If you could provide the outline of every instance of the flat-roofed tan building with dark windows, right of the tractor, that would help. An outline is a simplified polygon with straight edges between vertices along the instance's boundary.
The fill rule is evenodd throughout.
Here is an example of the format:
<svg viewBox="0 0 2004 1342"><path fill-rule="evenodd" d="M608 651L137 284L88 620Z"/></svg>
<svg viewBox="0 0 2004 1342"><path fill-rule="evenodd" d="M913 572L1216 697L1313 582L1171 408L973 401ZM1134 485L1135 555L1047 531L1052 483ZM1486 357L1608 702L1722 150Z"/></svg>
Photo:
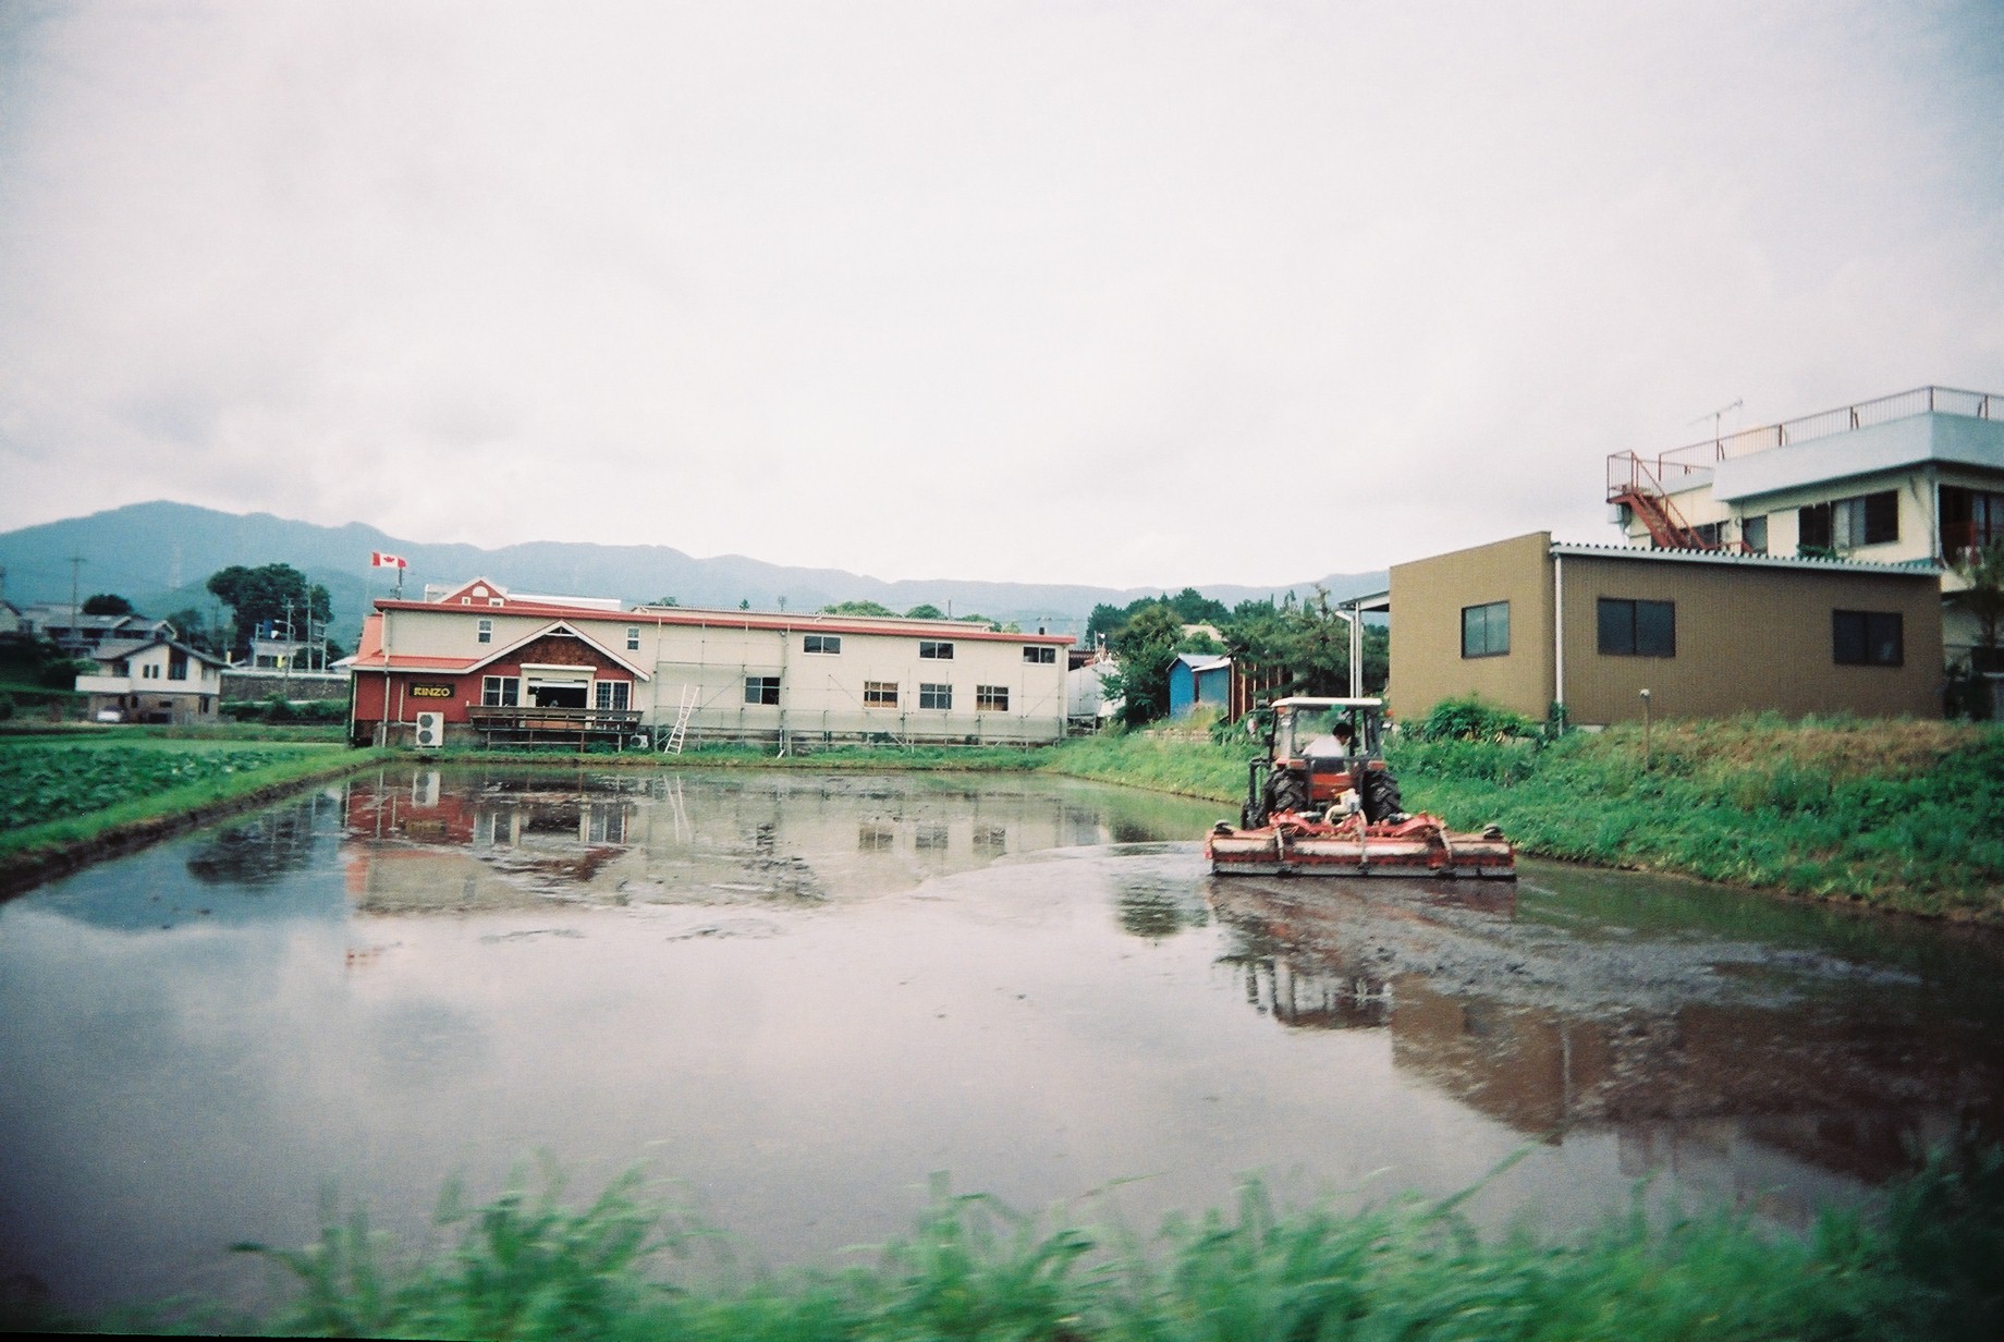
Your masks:
<svg viewBox="0 0 2004 1342"><path fill-rule="evenodd" d="M1553 543L1539 531L1391 569L1401 717L1479 695L1543 719L1774 709L1938 717L1934 565Z"/></svg>

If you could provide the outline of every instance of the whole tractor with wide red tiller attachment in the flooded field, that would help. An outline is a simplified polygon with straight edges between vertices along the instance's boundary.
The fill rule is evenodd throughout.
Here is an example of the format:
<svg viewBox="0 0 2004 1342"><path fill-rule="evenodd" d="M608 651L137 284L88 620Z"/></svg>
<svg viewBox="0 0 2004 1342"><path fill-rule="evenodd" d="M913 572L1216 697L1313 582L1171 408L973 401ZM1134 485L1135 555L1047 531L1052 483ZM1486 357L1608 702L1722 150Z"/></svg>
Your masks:
<svg viewBox="0 0 2004 1342"><path fill-rule="evenodd" d="M1277 699L1252 729L1267 757L1246 765L1238 827L1220 819L1204 839L1212 871L1515 879L1517 853L1495 825L1453 833L1401 809L1383 701Z"/></svg>

